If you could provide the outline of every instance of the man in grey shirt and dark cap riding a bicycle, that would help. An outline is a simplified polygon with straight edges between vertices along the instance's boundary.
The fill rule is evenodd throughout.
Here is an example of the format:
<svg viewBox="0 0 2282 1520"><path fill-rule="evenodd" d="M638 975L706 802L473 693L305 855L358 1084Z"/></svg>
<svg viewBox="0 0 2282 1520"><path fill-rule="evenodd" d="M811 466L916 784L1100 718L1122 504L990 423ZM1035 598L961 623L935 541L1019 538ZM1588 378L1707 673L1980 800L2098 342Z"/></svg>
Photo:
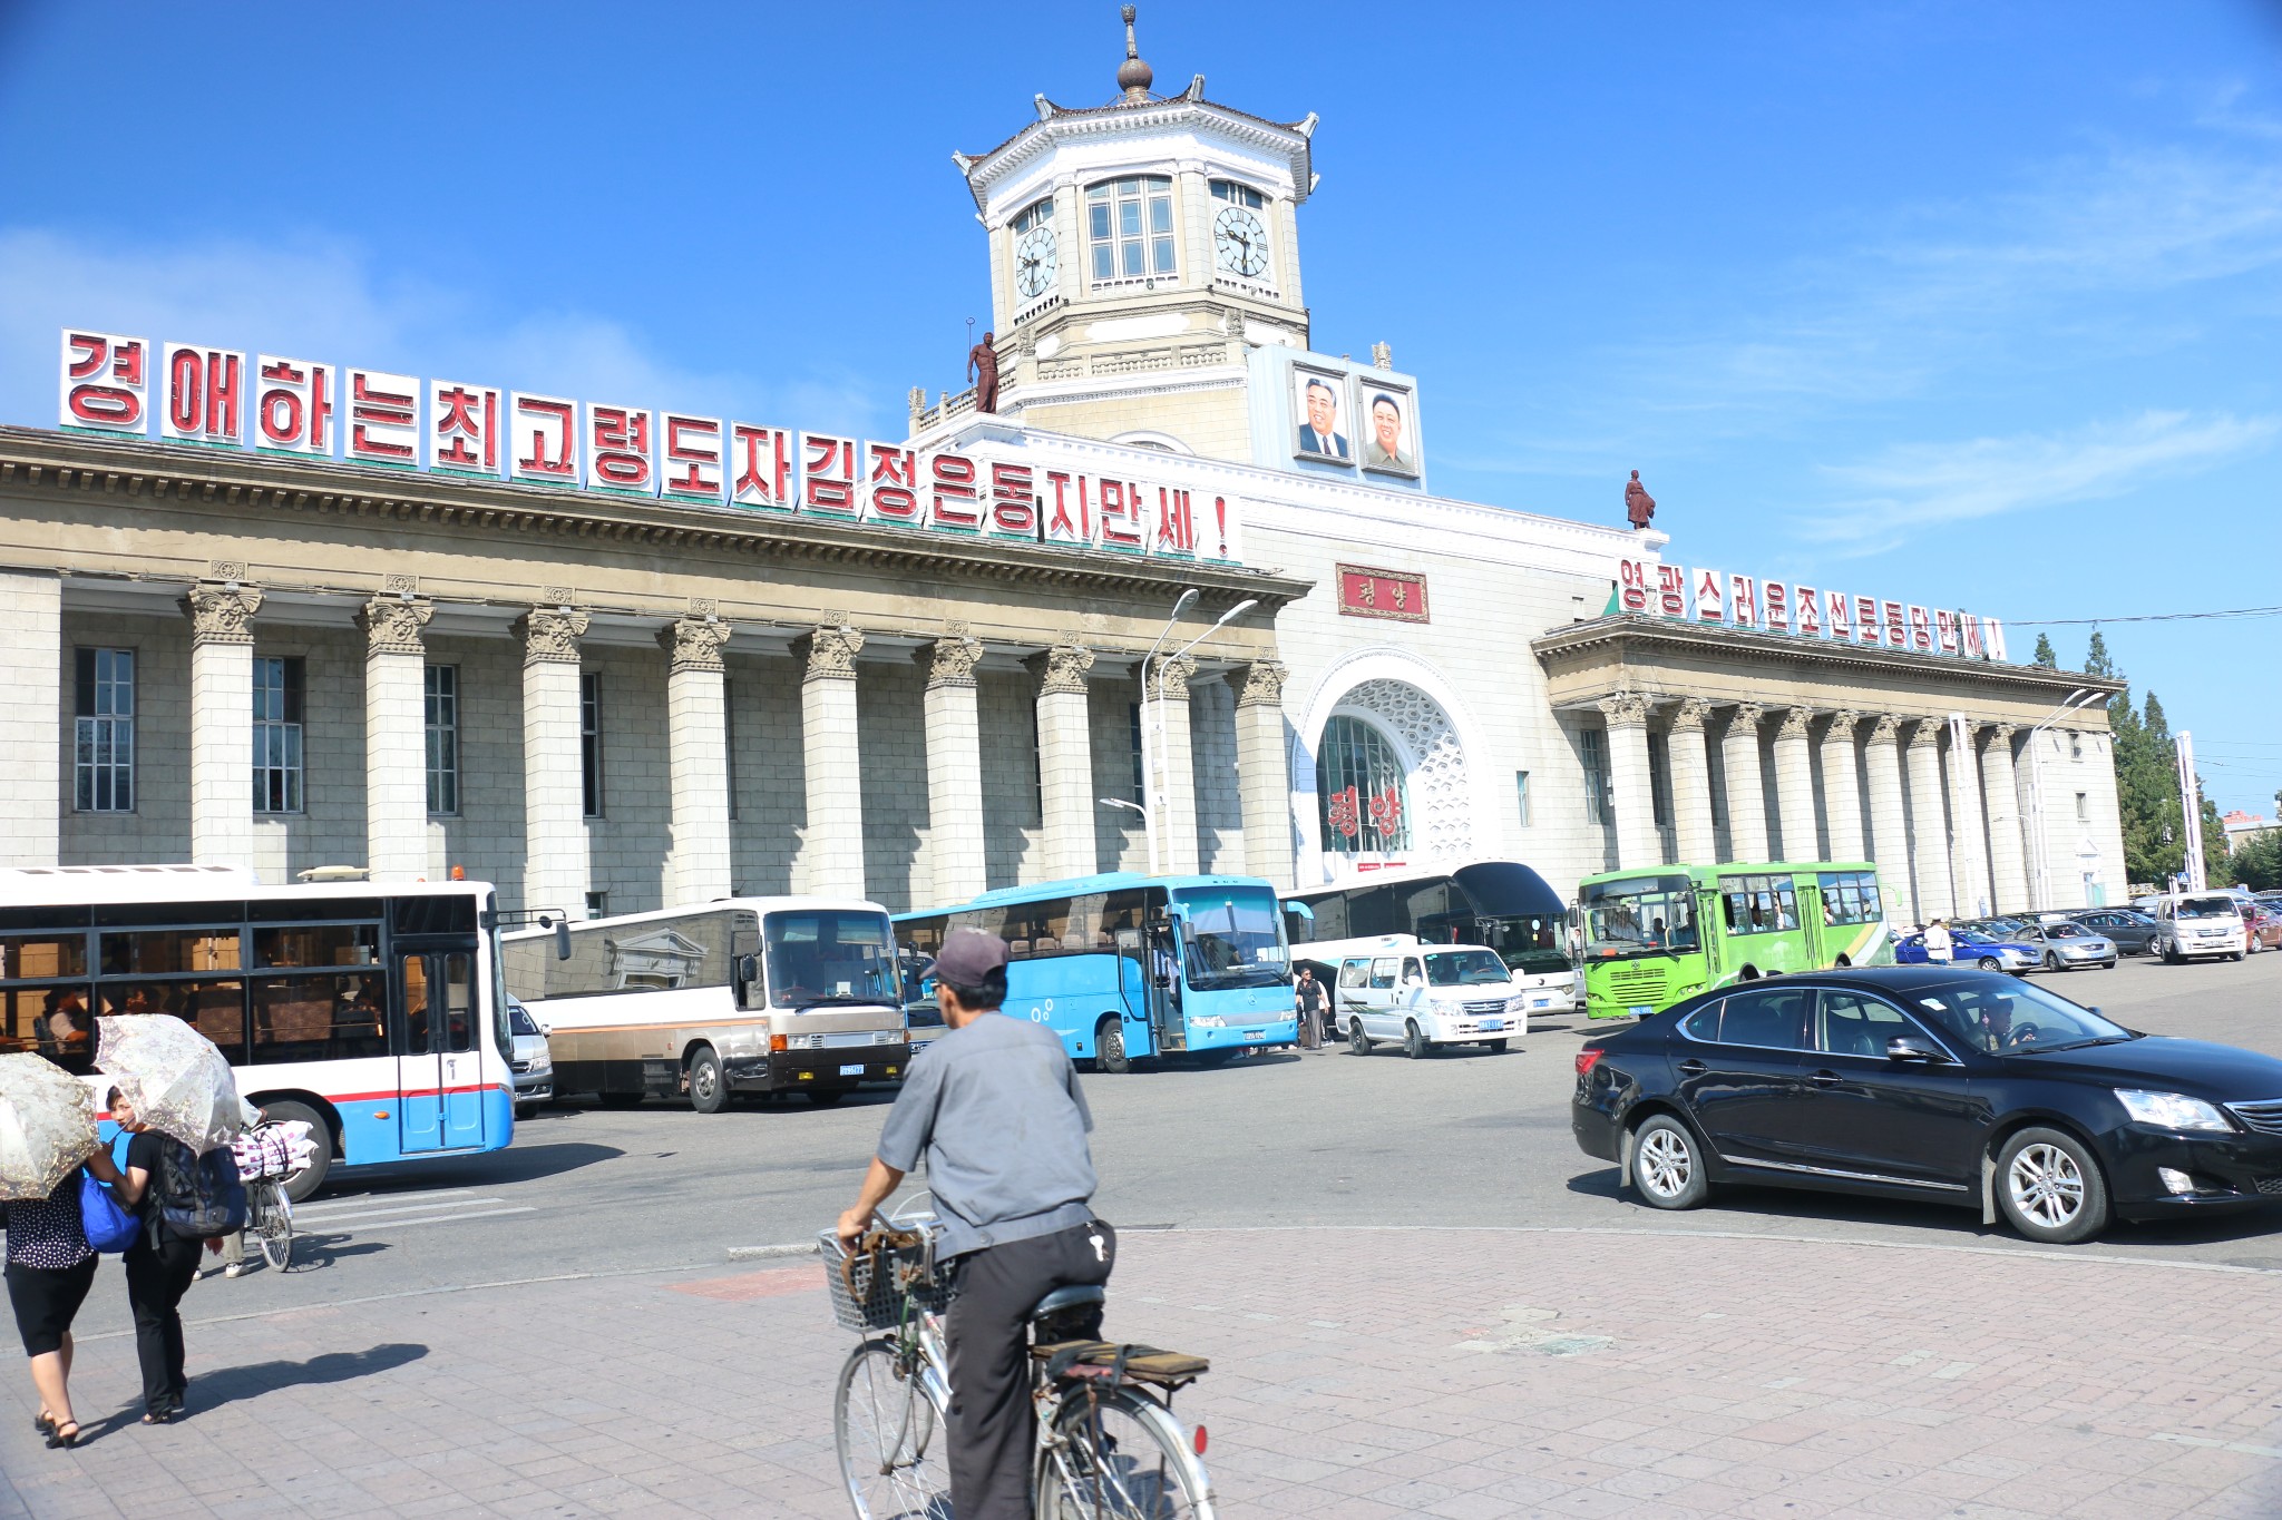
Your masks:
<svg viewBox="0 0 2282 1520"><path fill-rule="evenodd" d="M853 1247L924 1155L958 1288L945 1322L952 1511L1022 1520L1036 1443L1029 1310L1057 1288L1107 1283L1118 1237L1093 1217L1093 1114L1061 1039L1000 1012L1006 941L952 930L933 975L949 1032L904 1076L840 1242Z"/></svg>

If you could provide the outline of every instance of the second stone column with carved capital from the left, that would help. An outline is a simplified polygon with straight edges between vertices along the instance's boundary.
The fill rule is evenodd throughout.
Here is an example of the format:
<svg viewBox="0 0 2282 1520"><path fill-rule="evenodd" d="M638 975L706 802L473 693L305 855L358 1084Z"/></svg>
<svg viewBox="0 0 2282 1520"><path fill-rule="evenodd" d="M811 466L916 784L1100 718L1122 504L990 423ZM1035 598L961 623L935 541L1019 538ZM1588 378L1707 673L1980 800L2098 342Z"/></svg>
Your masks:
<svg viewBox="0 0 2282 1520"><path fill-rule="evenodd" d="M365 866L374 882L427 875L427 645L436 604L374 597L365 629Z"/></svg>

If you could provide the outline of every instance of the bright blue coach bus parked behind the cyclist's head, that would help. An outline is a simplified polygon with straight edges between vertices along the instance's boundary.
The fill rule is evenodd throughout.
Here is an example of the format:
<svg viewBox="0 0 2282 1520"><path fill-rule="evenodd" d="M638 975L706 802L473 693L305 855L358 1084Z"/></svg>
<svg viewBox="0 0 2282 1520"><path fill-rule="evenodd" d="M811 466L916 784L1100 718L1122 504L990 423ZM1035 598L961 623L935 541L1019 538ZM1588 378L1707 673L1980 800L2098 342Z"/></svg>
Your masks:
<svg viewBox="0 0 2282 1520"><path fill-rule="evenodd" d="M1047 1025L1070 1060L1100 1071L1127 1071L1148 1055L1228 1060L1298 1039L1282 914L1260 877L1123 871L901 914L897 939L915 957L915 1046L929 1035L922 1021L936 1016L936 950L965 925L1013 950L1006 1012Z"/></svg>

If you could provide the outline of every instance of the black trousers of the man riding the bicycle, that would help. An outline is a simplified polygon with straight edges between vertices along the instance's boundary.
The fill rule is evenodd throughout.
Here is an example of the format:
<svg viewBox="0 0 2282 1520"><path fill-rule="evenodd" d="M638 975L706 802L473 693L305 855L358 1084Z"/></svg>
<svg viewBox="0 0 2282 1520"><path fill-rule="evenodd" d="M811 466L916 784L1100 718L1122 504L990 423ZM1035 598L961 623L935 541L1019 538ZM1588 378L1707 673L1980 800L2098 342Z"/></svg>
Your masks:
<svg viewBox="0 0 2282 1520"><path fill-rule="evenodd" d="M958 1299L942 1331L952 1356L952 1513L958 1520L1029 1518L1036 1449L1029 1310L1057 1288L1107 1283L1116 1265L1118 1233L1100 1221L958 1258Z"/></svg>

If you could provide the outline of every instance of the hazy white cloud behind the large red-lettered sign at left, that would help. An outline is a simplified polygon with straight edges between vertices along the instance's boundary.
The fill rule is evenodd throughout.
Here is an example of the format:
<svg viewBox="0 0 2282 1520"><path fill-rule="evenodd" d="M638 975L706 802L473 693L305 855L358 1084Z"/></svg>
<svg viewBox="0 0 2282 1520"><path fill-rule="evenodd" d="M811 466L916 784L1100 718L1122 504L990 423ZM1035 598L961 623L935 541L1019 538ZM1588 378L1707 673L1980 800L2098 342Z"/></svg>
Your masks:
<svg viewBox="0 0 2282 1520"><path fill-rule="evenodd" d="M351 244L199 242L107 248L39 228L0 230L0 419L55 424L57 333L94 326L340 365L477 381L584 401L726 412L901 435L890 387L853 371L767 381L675 365L646 335L591 312L497 319L466 292L390 280Z"/></svg>

